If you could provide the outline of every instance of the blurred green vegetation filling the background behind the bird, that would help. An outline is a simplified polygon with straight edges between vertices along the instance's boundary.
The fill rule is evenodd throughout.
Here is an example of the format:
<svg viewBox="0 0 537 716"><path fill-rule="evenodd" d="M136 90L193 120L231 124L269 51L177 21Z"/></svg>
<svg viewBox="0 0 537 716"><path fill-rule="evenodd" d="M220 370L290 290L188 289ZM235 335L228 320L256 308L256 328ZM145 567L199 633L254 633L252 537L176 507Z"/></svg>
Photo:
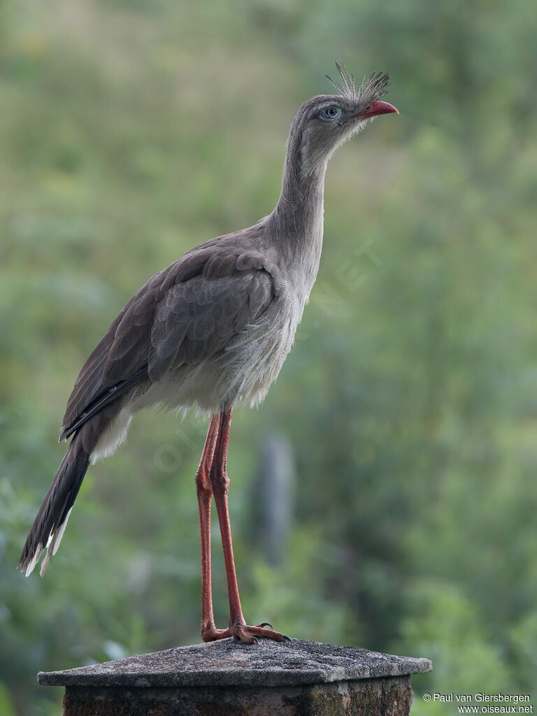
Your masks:
<svg viewBox="0 0 537 716"><path fill-rule="evenodd" d="M536 34L528 0L0 4L2 714L59 712L39 669L199 640L194 417L140 415L46 578L15 565L87 354L148 276L271 211L294 112L337 58L392 69L401 114L332 160L296 347L234 420L244 611L432 658L415 716L453 714L424 691L535 688ZM297 473L278 568L246 538L275 427Z"/></svg>

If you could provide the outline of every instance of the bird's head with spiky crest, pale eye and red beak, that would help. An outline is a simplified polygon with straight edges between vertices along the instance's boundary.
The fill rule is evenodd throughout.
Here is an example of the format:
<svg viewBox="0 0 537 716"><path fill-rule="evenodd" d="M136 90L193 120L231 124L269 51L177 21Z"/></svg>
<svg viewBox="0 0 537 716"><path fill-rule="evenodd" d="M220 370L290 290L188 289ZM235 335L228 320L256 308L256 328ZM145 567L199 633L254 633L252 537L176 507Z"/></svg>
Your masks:
<svg viewBox="0 0 537 716"><path fill-rule="evenodd" d="M341 84L326 77L337 94L319 95L304 102L291 127L289 144L299 149L303 175L326 165L337 147L354 137L369 120L397 112L393 105L380 101L387 92L390 74L372 74L357 87L352 74L338 62L336 66Z"/></svg>

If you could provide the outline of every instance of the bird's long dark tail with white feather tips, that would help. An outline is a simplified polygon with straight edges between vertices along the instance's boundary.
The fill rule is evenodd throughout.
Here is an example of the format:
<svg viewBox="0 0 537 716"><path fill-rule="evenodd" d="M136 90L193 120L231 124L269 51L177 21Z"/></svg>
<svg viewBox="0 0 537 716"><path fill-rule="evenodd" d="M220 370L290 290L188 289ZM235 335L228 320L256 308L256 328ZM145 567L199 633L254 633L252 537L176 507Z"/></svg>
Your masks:
<svg viewBox="0 0 537 716"><path fill-rule="evenodd" d="M32 573L46 548L47 556L40 571L43 576L50 558L56 554L62 541L74 500L89 465L90 453L84 449L82 440L84 427L75 433L26 538L19 559L19 569L26 571L26 576Z"/></svg>

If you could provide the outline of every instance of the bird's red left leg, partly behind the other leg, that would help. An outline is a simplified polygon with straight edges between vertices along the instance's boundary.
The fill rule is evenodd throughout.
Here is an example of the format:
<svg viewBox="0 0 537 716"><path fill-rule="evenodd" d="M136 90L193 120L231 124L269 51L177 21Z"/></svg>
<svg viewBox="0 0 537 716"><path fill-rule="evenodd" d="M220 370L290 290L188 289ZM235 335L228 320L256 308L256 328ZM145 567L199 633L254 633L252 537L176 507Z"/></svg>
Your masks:
<svg viewBox="0 0 537 716"><path fill-rule="evenodd" d="M195 473L195 489L198 493L201 534L201 637L205 642L222 638L224 629L216 629L213 616L213 594L211 589L211 499L213 488L209 472L218 439L221 416L211 416L207 438L201 453L200 466ZM223 634L228 637L229 634Z"/></svg>

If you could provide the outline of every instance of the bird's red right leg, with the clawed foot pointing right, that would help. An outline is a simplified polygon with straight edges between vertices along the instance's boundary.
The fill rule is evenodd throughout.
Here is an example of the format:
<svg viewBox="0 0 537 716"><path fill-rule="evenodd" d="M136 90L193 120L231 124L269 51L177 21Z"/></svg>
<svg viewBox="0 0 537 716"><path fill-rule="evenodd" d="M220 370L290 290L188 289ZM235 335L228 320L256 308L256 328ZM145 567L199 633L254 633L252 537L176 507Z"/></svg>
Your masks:
<svg viewBox="0 0 537 716"><path fill-rule="evenodd" d="M227 458L229 430L231 427L231 410L232 409L221 414L216 447L213 452L211 469L209 470L209 480L213 490L222 537L224 563L226 564L226 579L228 581L229 596L229 627L228 629L216 629L214 627L214 620L211 620L211 623L205 625L205 629L203 629L202 626L202 637L204 641L236 637L236 639L241 639L241 642L245 644L256 644L258 637L274 639L276 642L290 642L291 639L284 636L284 634L273 632L271 629L264 629L263 627L266 626L271 627L271 624L267 622L258 624L256 627L248 627L248 624L244 621L241 600L238 596L237 576L235 562L233 560L233 544L231 543L231 525L228 512L229 478L227 474Z"/></svg>

